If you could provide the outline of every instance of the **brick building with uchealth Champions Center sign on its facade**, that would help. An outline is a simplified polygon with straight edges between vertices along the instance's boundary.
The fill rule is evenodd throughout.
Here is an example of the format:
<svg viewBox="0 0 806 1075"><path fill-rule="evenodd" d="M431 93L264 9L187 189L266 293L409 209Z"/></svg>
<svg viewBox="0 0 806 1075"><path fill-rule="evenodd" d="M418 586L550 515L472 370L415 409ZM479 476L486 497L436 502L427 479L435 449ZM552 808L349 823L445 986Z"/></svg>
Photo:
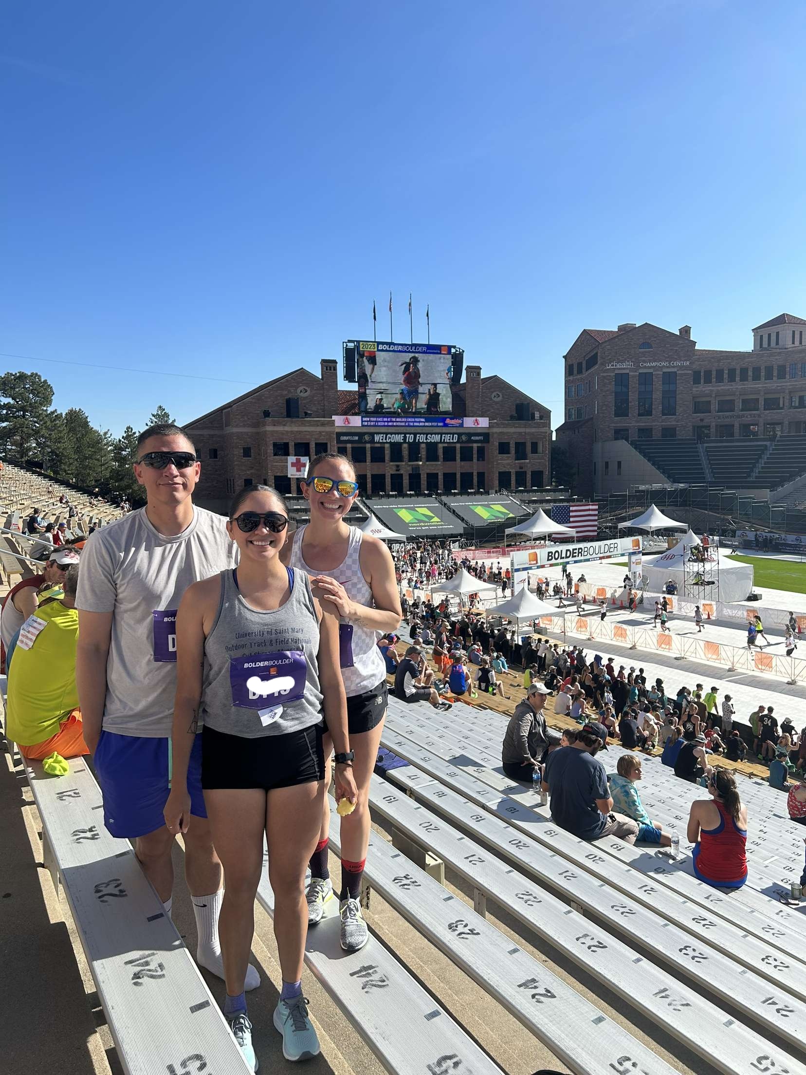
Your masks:
<svg viewBox="0 0 806 1075"><path fill-rule="evenodd" d="M688 325L580 332L563 358L557 430L573 491L674 482L758 493L803 474L806 320L781 314L752 334L751 350L710 350Z"/></svg>

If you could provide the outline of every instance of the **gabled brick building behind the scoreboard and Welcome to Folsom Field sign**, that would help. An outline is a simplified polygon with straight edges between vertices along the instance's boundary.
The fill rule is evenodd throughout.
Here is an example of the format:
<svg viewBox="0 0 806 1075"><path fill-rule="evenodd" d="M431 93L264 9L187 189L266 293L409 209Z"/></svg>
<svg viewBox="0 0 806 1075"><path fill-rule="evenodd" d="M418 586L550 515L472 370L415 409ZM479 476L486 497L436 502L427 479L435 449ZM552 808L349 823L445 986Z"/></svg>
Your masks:
<svg viewBox="0 0 806 1075"><path fill-rule="evenodd" d="M197 500L226 511L244 486L297 492L289 457L334 450L352 460L370 496L549 484L551 414L546 407L503 377L483 377L479 366L465 367L465 381L454 387L452 399L455 416L486 417L489 428L429 433L420 427L408 430L417 443L373 443L380 440L379 431L336 428L334 415L358 415L358 395L339 388L335 360L323 359L318 377L302 368L284 373L186 424L202 461Z"/></svg>

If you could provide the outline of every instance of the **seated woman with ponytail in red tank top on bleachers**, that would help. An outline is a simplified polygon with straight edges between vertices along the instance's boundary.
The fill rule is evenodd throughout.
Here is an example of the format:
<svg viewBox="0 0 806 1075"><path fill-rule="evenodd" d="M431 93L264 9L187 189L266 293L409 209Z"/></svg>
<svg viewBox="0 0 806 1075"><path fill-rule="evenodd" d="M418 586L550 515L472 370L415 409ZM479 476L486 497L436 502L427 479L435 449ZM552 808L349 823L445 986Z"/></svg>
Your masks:
<svg viewBox="0 0 806 1075"><path fill-rule="evenodd" d="M740 888L747 880L747 807L733 773L709 769L710 800L691 804L688 837L694 844L694 874L715 888Z"/></svg>

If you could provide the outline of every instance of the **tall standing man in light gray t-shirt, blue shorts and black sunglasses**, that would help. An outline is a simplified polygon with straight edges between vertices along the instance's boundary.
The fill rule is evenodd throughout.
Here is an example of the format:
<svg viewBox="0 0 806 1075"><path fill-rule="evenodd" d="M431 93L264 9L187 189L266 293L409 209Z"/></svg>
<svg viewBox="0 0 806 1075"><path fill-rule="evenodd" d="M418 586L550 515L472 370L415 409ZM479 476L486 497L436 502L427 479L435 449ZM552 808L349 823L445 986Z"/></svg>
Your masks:
<svg viewBox="0 0 806 1075"><path fill-rule="evenodd" d="M95 755L103 820L134 842L148 880L171 913L177 835L164 823L170 736L176 689L176 610L192 583L234 567L226 520L195 507L201 467L177 426L140 434L134 474L146 506L89 538L78 582L76 684L84 737ZM213 848L201 790L201 734L188 770L192 820L185 833L185 875L198 928L197 958L224 977L218 912L221 864ZM246 988L260 984L249 968Z"/></svg>

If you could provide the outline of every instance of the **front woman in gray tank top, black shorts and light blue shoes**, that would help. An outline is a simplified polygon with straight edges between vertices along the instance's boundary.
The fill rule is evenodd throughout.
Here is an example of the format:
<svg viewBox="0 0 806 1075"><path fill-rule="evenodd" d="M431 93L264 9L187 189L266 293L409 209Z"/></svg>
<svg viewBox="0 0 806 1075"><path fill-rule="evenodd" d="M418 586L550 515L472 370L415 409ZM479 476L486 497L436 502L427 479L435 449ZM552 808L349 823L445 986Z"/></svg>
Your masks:
<svg viewBox="0 0 806 1075"><path fill-rule="evenodd" d="M305 868L316 847L325 799L322 736L347 754L347 706L339 668L339 620L313 597L307 575L279 550L288 513L273 489L235 497L227 530L239 565L195 583L176 617L173 778L165 825L192 825L190 749L202 728L202 788L225 874L219 918L225 1016L253 1071L244 983L254 904L269 848L283 989L274 1026L288 1060L319 1052L302 995L307 932ZM335 766L336 799L357 799L349 761Z"/></svg>

